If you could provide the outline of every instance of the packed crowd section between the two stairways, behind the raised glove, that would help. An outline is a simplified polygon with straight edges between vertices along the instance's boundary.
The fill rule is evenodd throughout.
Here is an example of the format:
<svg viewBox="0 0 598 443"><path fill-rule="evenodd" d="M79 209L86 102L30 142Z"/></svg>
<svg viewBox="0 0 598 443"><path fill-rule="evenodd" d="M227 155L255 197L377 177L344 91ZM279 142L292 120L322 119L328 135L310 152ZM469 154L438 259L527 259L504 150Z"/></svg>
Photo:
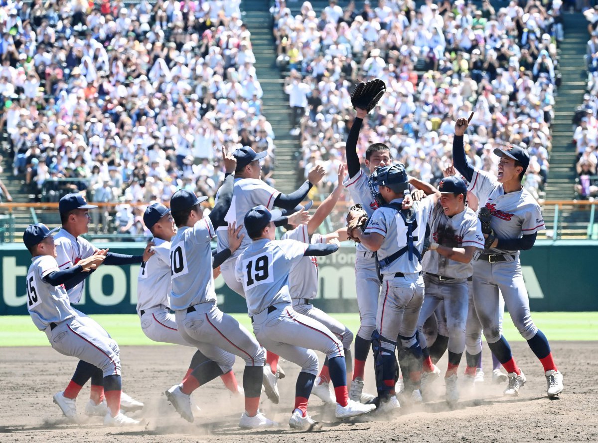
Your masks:
<svg viewBox="0 0 598 443"><path fill-rule="evenodd" d="M561 0L515 0L493 8L472 2L330 0L322 11L304 2L293 16L285 1L271 9L292 134L301 140L301 171L323 163L334 185L358 81L382 78L387 93L361 131L359 152L383 142L410 174L434 182L451 162L458 117L475 112L469 158L491 169L494 147L530 153L524 186L536 199L547 179L550 123L559 86Z"/></svg>

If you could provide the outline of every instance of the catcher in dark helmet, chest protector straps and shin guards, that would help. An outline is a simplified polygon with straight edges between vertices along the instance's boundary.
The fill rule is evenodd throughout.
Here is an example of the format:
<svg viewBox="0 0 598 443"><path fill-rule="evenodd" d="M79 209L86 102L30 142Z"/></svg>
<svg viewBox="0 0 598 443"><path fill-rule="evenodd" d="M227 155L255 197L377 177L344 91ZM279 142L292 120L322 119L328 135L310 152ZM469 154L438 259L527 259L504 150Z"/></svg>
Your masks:
<svg viewBox="0 0 598 443"><path fill-rule="evenodd" d="M423 242L426 224L436 198L428 196L413 202L411 210L404 210L404 193L408 190L405 166L398 163L374 171L371 183L378 187L374 196L379 208L374 211L367 227L352 229L350 220L347 235L356 238L371 251L377 251L384 292L376 312L376 329L372 334L375 359L377 403L383 412L400 408L395 396L395 350L401 340L405 394L417 399L420 393L422 348L417 339L417 318L422 307L424 283L422 278ZM429 187L429 194L437 195ZM382 207L380 207L382 206ZM406 375L404 372L404 376Z"/></svg>

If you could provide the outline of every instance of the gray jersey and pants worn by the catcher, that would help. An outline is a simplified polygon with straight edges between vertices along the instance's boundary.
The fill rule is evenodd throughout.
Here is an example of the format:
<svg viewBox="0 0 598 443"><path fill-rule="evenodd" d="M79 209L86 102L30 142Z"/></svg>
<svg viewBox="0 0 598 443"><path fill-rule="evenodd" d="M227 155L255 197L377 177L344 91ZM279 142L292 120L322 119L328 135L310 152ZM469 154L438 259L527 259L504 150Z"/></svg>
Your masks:
<svg viewBox="0 0 598 443"><path fill-rule="evenodd" d="M395 199L391 203L394 202L401 203L402 199ZM419 253L423 250L426 224L433 208L434 202L430 198L413 203L417 223L413 231L413 246ZM384 237L378 250L378 258L381 261L407 246L407 226L401 215L393 208L382 207L374 211L365 233L377 233ZM382 337L391 342L394 342L399 335L415 336L424 293L421 271L422 265L417 257L413 255L410 259L407 252L392 263L381 266L384 293L380 294L376 329ZM388 341L383 341L381 345L390 352L394 351L394 346ZM408 347L405 343L403 345Z"/></svg>

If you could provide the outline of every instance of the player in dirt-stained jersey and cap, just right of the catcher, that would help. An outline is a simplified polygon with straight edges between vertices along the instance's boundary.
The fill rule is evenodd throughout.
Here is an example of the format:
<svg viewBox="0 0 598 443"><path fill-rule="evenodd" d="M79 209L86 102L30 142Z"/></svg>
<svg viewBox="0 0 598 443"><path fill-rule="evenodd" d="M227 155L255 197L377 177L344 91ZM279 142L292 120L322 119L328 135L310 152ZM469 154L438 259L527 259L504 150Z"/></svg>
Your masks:
<svg viewBox="0 0 598 443"><path fill-rule="evenodd" d="M412 180L415 187L419 181ZM438 185L438 194L430 219L430 245L422 260L425 297L417 321L419 341L423 351L422 396L431 399L431 383L438 378L438 369L430 358L426 336L422 332L425 321L444 304L447 318L449 366L445 375L446 399L459 400L457 368L465 350L465 324L468 314L468 281L472 280L471 259L474 252L484 248L481 223L474 211L466 206L467 186L459 177L445 177Z"/></svg>

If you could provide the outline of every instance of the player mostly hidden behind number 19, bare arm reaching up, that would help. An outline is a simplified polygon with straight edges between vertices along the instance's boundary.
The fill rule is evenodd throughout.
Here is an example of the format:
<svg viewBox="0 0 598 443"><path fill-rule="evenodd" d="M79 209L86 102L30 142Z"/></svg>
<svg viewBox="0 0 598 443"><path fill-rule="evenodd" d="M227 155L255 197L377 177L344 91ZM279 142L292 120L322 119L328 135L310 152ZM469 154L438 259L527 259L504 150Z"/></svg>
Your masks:
<svg viewBox="0 0 598 443"><path fill-rule="evenodd" d="M313 217L310 217L307 224L300 224L299 226L295 226L294 229L288 230L282 236L283 240L291 239L306 244L320 244L344 241L347 239L346 228L344 227L325 235L315 233L337 204L338 198L344 189L344 175L345 166L343 164L338 168L338 186L322 202L318 207L318 210L313 214ZM350 354L353 333L349 328L344 326L344 324L340 323L340 321L330 317L326 312L319 310L311 304L311 301L315 299L318 294L318 259L315 256L303 257L299 263L293 266L289 274L289 294L291 295L295 312L307 315L307 317L313 318L313 320L324 324L324 326L328 327L328 329L341 341L344 348L347 379L350 380L353 366ZM312 393L324 400L324 402L336 403L330 389L328 358L324 361L322 371L318 378L316 378Z"/></svg>

